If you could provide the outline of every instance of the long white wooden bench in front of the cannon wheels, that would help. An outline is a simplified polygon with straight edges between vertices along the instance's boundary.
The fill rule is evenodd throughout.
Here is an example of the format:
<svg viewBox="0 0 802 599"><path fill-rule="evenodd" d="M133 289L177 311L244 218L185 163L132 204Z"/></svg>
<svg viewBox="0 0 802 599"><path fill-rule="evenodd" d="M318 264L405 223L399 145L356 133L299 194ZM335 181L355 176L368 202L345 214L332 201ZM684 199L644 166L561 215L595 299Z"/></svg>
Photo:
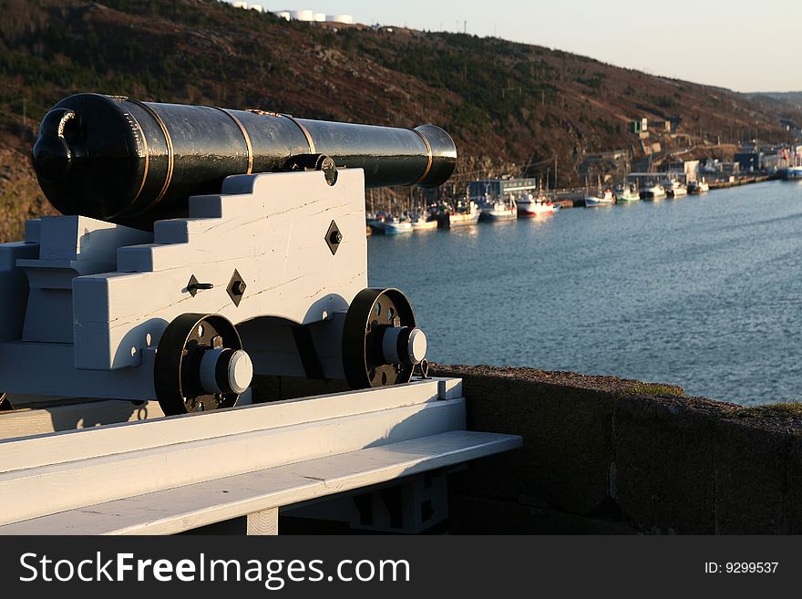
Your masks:
<svg viewBox="0 0 802 599"><path fill-rule="evenodd" d="M0 533L162 534L513 449L470 432L458 379L0 440Z"/></svg>

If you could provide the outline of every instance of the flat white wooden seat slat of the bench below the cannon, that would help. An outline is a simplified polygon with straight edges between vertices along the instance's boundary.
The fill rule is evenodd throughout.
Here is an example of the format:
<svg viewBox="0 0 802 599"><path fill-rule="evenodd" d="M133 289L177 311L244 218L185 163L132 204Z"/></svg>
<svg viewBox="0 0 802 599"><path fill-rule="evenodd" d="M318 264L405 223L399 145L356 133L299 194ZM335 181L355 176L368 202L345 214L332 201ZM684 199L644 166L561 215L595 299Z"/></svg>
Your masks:
<svg viewBox="0 0 802 599"><path fill-rule="evenodd" d="M195 483L0 526L0 534L172 534L452 466L520 446L449 431Z"/></svg>

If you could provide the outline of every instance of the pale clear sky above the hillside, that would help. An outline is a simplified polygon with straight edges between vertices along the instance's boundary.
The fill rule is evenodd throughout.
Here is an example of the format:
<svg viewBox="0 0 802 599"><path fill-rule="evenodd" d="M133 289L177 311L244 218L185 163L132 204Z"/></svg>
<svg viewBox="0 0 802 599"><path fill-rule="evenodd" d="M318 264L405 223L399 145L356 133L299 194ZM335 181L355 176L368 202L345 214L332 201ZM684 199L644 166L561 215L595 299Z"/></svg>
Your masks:
<svg viewBox="0 0 802 599"><path fill-rule="evenodd" d="M802 90L802 0L272 2L253 0L365 25L499 36L736 91Z"/></svg>

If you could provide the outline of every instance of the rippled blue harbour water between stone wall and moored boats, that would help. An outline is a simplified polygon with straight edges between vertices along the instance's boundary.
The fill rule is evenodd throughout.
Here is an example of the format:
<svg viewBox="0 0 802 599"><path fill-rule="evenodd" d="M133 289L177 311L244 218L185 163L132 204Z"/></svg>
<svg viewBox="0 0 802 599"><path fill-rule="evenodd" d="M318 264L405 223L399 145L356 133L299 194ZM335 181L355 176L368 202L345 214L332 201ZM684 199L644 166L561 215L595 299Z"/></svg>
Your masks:
<svg viewBox="0 0 802 599"><path fill-rule="evenodd" d="M410 297L441 364L802 400L802 183L375 235L369 281Z"/></svg>

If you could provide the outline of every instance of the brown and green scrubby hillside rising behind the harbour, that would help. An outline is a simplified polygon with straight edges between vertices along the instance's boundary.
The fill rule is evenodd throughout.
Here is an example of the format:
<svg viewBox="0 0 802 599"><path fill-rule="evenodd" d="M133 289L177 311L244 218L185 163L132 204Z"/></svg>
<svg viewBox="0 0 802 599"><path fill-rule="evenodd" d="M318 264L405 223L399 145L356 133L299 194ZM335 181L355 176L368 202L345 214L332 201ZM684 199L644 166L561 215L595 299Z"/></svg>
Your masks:
<svg viewBox="0 0 802 599"><path fill-rule="evenodd" d="M507 172L553 179L547 167L556 159L556 182L570 185L586 152L628 149L640 158L654 141L663 150L778 141L789 135L779 116L802 122L802 108L785 101L753 102L498 38L288 23L215 0L2 5L0 158L15 173L4 177L0 165L4 238L46 207L23 197L30 181L19 181L32 176L25 155L38 120L79 91L404 127L434 122L457 141L456 182ZM628 132L642 117L672 121L679 137L642 144Z"/></svg>

